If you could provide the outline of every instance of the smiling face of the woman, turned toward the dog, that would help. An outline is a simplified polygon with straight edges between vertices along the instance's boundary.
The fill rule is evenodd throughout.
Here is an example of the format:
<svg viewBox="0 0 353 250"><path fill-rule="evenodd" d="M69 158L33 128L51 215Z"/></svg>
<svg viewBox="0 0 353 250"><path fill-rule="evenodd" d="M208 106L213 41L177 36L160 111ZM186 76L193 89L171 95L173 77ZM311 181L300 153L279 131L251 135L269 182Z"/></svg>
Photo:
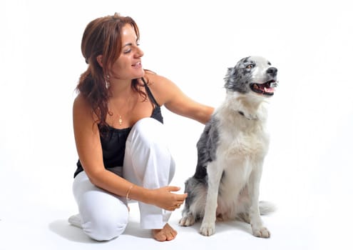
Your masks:
<svg viewBox="0 0 353 250"><path fill-rule="evenodd" d="M126 24L121 30L121 54L113 63L110 79L131 80L143 76L141 64L143 51L138 47L137 36L133 26Z"/></svg>

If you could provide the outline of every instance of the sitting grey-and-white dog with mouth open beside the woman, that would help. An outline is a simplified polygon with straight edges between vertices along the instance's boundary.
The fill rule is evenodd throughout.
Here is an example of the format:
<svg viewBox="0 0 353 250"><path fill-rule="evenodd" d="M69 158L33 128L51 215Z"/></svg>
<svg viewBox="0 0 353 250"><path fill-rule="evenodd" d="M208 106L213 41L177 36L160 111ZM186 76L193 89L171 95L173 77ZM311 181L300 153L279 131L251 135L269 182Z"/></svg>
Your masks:
<svg viewBox="0 0 353 250"><path fill-rule="evenodd" d="M185 181L180 226L203 219L200 234L215 234L217 219L250 223L252 234L268 238L260 214L275 206L259 202L262 165L269 147L266 104L277 87L277 69L261 56L228 68L225 101L215 109L197 144L195 174Z"/></svg>

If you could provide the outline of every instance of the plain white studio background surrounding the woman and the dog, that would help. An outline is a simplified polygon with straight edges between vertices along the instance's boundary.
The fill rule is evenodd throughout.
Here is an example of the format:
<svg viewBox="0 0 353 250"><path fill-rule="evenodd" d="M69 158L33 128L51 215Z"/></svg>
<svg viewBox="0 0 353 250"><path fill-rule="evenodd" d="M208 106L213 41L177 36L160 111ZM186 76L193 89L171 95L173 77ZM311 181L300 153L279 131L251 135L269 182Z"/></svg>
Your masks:
<svg viewBox="0 0 353 250"><path fill-rule="evenodd" d="M226 69L242 57L265 56L277 67L261 185L261 198L278 206L264 218L271 239L231 222L206 238L200 225L179 228L176 211L178 238L160 244L140 231L134 207L126 235L105 244L67 225L76 213L71 106L86 69L81 36L89 21L114 12L138 23L144 68L196 101L218 105ZM341 0L1 1L0 249L349 249L352 16ZM172 184L183 187L203 125L165 109L163 115L178 164Z"/></svg>

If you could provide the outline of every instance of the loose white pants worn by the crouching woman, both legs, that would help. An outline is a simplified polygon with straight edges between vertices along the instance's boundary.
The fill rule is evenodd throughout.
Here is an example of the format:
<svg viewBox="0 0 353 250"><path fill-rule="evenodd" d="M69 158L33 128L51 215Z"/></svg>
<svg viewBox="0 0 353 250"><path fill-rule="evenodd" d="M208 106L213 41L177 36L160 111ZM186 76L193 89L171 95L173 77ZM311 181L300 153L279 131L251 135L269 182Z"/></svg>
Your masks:
<svg viewBox="0 0 353 250"><path fill-rule="evenodd" d="M153 118L138 121L126 141L123 178L147 189L168 186L175 173L163 132L163 124ZM73 181L73 196L78 204L81 227L92 239L113 239L128 224L125 197L113 195L91 184L84 171ZM171 212L139 202L143 229L162 229Z"/></svg>

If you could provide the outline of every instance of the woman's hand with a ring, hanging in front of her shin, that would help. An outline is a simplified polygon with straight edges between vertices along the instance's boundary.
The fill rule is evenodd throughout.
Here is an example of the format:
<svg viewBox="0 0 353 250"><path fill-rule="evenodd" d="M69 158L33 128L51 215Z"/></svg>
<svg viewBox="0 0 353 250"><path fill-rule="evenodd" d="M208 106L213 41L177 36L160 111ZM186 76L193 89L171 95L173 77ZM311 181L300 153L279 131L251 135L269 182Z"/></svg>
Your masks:
<svg viewBox="0 0 353 250"><path fill-rule="evenodd" d="M168 211L179 209L188 196L188 194L172 193L179 190L180 187L178 186L163 186L160 189L153 189L151 190L150 203Z"/></svg>

